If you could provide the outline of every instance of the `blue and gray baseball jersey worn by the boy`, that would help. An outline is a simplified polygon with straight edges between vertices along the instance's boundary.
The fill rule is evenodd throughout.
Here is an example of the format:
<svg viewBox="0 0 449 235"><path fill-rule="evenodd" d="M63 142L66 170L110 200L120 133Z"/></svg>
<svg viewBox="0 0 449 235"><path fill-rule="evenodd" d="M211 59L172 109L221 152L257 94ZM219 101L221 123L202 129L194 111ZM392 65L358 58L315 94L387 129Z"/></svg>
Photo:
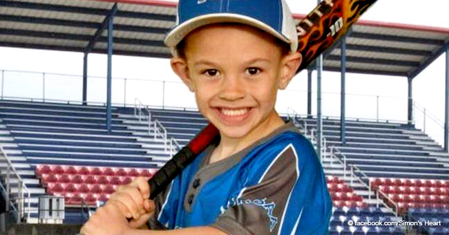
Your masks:
<svg viewBox="0 0 449 235"><path fill-rule="evenodd" d="M157 196L151 229L211 226L232 235L327 234L332 202L323 169L292 122L209 164L217 144Z"/></svg>

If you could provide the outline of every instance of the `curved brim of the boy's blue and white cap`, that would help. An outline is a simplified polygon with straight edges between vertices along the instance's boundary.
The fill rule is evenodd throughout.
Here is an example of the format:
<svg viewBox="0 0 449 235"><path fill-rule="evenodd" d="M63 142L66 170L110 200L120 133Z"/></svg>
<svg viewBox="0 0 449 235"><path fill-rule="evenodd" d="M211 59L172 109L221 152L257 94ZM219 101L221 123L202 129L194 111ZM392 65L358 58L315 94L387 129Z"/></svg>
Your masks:
<svg viewBox="0 0 449 235"><path fill-rule="evenodd" d="M274 37L282 41L285 41L285 43L287 44L291 43L291 41L289 41L287 37L284 37L279 32L268 26L266 23L263 23L262 21L258 21L257 19L251 17L247 17L245 15L237 15L232 13L202 15L185 21L179 26L173 28L171 32L169 32L164 40L164 43L166 44L166 46L174 48L180 43L180 41L182 41L182 39L184 39L184 37L186 37L193 30L212 23L242 23L249 26L254 26L256 28L259 28L260 30L268 32L270 35L273 35Z"/></svg>

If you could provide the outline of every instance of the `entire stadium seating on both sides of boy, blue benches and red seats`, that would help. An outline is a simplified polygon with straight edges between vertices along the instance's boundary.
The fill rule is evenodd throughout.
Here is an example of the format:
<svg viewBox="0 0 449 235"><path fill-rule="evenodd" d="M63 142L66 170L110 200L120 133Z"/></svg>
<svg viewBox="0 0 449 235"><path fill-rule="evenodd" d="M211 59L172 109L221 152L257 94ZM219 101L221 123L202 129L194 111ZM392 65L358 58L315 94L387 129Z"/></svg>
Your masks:
<svg viewBox="0 0 449 235"><path fill-rule="evenodd" d="M151 117L180 145L207 124L197 111L151 109ZM314 128L314 120L298 121L307 122L309 133ZM80 198L90 205L107 200L117 185L136 176L152 176L170 158L162 140L154 138L153 122L140 122L134 109L113 108L111 133L105 131L104 122L102 106L0 101L0 139L15 167L36 190L33 195L65 196L69 207L79 205ZM339 140L338 121L325 120L324 132L328 148L342 151L348 166L356 165L372 178L372 198L373 191L381 189L398 195L392 198L402 203L401 208L445 208L435 206L444 205L448 198L449 171L441 161L445 155L421 131L402 124L352 121L347 123L344 145ZM334 200L330 234L404 234L403 227L347 225L348 220L397 221L403 217L376 207L374 199L367 200L366 189L353 177L343 180L343 166L338 162L325 158L323 168ZM430 230L423 229L432 234Z"/></svg>

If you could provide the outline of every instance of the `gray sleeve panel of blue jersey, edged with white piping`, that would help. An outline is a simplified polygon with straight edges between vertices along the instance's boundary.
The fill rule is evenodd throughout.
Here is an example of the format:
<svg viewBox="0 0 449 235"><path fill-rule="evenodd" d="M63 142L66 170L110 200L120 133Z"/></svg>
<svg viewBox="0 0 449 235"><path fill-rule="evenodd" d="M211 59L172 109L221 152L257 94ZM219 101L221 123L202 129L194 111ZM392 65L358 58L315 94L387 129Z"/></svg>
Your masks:
<svg viewBox="0 0 449 235"><path fill-rule="evenodd" d="M298 156L289 144L274 159L258 184L242 189L240 198L233 199L230 207L211 226L228 234L278 234L299 178L297 166ZM247 231L242 233L242 228Z"/></svg>

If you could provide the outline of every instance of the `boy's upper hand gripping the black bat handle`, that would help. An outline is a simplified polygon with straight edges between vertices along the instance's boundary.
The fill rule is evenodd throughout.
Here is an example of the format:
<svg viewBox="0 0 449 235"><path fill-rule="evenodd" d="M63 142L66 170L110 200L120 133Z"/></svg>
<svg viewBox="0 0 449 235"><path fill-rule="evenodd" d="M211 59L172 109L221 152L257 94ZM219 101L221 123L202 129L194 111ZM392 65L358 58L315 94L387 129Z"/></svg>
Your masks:
<svg viewBox="0 0 449 235"><path fill-rule="evenodd" d="M111 195L106 206L114 203L129 221L131 228L139 228L149 220L154 212L154 201L149 199L150 186L148 178L138 177L128 185L120 185Z"/></svg>

